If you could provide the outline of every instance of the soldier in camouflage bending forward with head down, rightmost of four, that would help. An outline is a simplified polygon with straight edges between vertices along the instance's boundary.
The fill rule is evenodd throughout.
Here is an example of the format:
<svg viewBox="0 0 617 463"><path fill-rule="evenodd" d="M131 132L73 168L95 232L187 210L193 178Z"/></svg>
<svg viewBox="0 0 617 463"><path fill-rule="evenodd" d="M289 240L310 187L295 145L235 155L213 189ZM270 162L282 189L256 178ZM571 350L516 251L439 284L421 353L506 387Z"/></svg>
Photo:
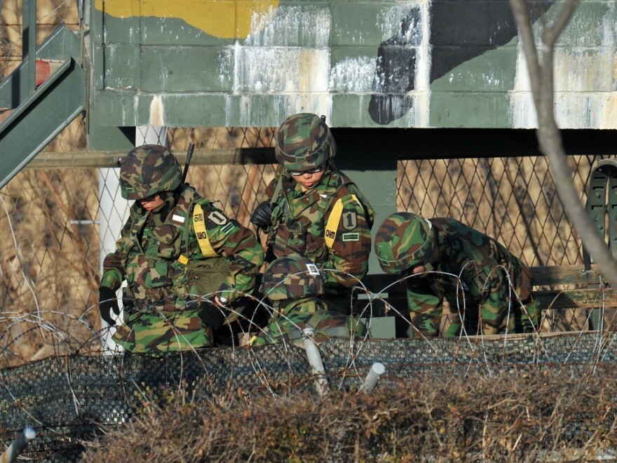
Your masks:
<svg viewBox="0 0 617 463"><path fill-rule="evenodd" d="M421 337L439 334L444 299L455 314L442 333L447 337L527 333L538 325L529 269L461 222L392 214L377 231L375 253L386 273L407 277L410 315Z"/></svg>

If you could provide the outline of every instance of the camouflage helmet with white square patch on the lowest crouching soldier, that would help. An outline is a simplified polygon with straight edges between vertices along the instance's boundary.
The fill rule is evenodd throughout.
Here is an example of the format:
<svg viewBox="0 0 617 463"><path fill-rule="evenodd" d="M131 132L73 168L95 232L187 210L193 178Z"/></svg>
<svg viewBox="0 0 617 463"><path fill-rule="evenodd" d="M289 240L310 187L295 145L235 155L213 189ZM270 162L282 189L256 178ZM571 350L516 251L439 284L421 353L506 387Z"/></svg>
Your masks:
<svg viewBox="0 0 617 463"><path fill-rule="evenodd" d="M279 257L266 267L260 290L273 301L323 294L316 264L306 257L291 255Z"/></svg>

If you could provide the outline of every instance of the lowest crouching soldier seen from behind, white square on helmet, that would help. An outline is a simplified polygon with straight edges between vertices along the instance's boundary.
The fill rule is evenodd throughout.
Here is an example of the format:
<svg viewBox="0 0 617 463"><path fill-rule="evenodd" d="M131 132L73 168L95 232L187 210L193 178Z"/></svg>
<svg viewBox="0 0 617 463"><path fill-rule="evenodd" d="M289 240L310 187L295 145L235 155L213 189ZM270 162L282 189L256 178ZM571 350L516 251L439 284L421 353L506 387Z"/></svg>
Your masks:
<svg viewBox="0 0 617 463"><path fill-rule="evenodd" d="M252 346L287 342L303 346L303 330L313 328L313 339L364 337L367 329L353 316L330 310L320 298L322 275L306 257L273 260L264 271L261 292L273 304L269 325L251 340Z"/></svg>

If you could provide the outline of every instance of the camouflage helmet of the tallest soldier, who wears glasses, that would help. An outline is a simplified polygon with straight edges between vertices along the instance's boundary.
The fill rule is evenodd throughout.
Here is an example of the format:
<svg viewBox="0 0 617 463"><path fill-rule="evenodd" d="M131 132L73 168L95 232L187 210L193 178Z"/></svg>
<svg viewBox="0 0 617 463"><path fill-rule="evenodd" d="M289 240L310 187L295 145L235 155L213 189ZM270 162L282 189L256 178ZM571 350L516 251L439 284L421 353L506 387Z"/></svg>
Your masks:
<svg viewBox="0 0 617 463"><path fill-rule="evenodd" d="M300 113L289 116L280 125L275 154L285 169L308 170L337 154L337 144L324 119L316 114Z"/></svg>

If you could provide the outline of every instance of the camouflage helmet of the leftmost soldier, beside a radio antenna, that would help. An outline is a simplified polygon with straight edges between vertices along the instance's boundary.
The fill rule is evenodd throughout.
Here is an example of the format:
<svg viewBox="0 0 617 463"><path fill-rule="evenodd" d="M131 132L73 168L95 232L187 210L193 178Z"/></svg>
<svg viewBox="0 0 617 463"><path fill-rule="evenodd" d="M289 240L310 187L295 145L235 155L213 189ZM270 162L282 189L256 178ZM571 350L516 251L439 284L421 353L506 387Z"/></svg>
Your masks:
<svg viewBox="0 0 617 463"><path fill-rule="evenodd" d="M124 199L142 199L175 190L182 170L170 150L161 145L142 145L128 152L120 167Z"/></svg>

